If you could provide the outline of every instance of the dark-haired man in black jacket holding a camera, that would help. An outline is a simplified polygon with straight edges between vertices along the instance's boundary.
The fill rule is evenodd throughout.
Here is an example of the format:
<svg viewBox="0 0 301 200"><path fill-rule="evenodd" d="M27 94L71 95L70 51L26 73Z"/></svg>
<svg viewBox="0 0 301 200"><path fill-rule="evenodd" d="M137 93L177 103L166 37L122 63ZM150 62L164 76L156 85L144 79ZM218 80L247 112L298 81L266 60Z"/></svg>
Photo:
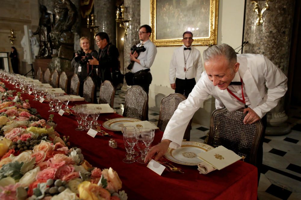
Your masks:
<svg viewBox="0 0 301 200"><path fill-rule="evenodd" d="M119 71L119 52L115 45L110 43L107 33L99 32L95 36L96 45L99 48L98 58L89 60L89 64L98 65L98 77L101 82L112 79L112 73Z"/></svg>

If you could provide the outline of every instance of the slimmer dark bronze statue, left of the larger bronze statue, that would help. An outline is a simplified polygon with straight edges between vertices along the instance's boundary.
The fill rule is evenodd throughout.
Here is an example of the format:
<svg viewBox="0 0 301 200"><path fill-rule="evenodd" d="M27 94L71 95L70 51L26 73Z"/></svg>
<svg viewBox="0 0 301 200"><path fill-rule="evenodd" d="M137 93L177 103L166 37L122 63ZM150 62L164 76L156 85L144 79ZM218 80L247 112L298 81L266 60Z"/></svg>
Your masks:
<svg viewBox="0 0 301 200"><path fill-rule="evenodd" d="M39 27L33 34L39 34L40 50L39 58L49 58L52 54L52 45L50 39L51 24L53 22L53 16L47 12L47 8L44 5L40 6L41 17L39 20Z"/></svg>

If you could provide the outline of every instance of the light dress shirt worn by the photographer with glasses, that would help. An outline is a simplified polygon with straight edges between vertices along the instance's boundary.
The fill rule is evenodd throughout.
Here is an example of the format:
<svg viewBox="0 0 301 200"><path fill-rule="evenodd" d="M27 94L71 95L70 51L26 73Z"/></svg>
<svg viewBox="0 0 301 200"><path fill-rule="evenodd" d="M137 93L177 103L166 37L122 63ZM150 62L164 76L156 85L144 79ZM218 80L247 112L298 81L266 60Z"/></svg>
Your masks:
<svg viewBox="0 0 301 200"><path fill-rule="evenodd" d="M137 44L136 46L141 46L141 43ZM146 42L144 42L143 46L146 50L144 52L140 52L139 56L137 57L137 59L140 60L140 64L138 62L134 63L132 73L149 69L155 60L157 47L154 45L154 43L148 39Z"/></svg>

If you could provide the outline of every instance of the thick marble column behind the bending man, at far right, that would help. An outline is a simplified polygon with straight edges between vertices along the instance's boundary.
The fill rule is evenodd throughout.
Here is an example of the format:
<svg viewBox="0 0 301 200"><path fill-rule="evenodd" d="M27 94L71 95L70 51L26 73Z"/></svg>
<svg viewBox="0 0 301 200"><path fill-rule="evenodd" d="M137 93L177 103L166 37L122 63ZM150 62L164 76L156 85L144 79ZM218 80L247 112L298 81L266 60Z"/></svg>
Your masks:
<svg viewBox="0 0 301 200"><path fill-rule="evenodd" d="M259 13L266 1L257 1ZM249 43L243 53L263 54L287 75L290 57L290 43L293 28L294 0L268 1L269 8L262 15L262 24L257 25L258 15L253 11L255 4L246 1L244 41ZM284 112L284 97L267 113L266 135L283 135L290 132Z"/></svg>

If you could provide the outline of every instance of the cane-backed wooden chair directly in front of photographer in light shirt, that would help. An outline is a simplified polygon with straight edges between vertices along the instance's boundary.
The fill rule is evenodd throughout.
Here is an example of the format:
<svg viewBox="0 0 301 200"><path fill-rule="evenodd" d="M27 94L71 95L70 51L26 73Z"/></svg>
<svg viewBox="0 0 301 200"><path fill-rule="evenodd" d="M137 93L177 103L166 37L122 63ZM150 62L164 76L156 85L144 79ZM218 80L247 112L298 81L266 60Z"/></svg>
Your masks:
<svg viewBox="0 0 301 200"><path fill-rule="evenodd" d="M126 91L123 116L129 118L146 119L148 94L138 85L133 85Z"/></svg>

